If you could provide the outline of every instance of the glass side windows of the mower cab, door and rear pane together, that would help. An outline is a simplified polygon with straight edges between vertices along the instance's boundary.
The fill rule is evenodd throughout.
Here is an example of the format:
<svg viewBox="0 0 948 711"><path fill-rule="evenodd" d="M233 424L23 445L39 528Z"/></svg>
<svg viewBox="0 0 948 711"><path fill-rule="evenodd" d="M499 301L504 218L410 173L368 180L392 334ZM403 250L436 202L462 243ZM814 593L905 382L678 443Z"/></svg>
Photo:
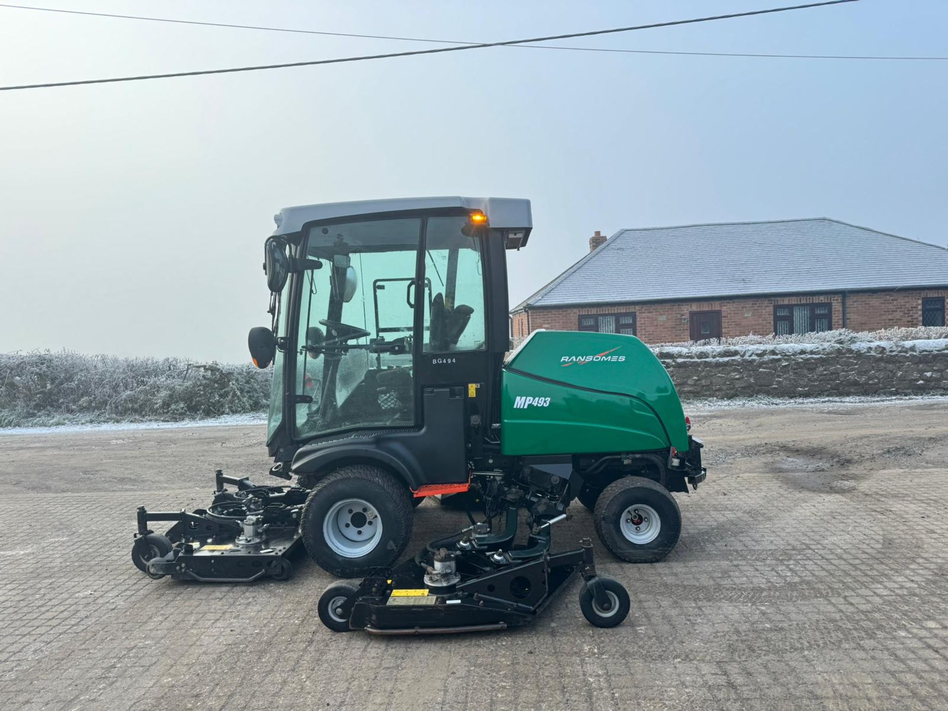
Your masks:
<svg viewBox="0 0 948 711"><path fill-rule="evenodd" d="M302 230L297 254L308 262L283 300L284 309L291 304L282 354L288 371L283 358L275 370L292 398L283 412L293 440L420 424L420 359L450 362L487 348L486 232L468 212L322 221ZM271 430L274 420L271 412Z"/></svg>

